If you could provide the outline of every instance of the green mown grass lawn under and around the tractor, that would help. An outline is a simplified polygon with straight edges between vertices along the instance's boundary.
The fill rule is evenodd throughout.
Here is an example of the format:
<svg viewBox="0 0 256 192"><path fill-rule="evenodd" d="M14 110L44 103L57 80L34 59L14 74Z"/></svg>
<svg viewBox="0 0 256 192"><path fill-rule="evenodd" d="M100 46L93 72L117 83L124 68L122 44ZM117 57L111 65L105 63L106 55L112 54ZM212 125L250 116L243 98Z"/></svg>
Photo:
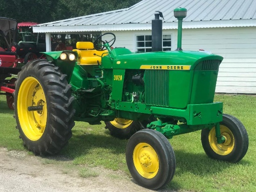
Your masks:
<svg viewBox="0 0 256 192"><path fill-rule="evenodd" d="M240 119L249 135L249 149L237 164L209 159L202 149L200 131L175 136L170 143L175 150L176 171L167 189L203 192L255 192L256 191L256 97L252 95L217 94L216 101L223 102L224 113ZM0 96L0 146L9 150L25 150L19 139L13 111ZM74 165L99 166L121 170L129 175L125 160L128 140L113 138L100 126L76 122L73 137L60 152L72 160ZM45 160L45 163L51 161ZM82 177L91 174L81 168ZM97 176L97 172L95 172ZM84 176L83 176L84 175Z"/></svg>

